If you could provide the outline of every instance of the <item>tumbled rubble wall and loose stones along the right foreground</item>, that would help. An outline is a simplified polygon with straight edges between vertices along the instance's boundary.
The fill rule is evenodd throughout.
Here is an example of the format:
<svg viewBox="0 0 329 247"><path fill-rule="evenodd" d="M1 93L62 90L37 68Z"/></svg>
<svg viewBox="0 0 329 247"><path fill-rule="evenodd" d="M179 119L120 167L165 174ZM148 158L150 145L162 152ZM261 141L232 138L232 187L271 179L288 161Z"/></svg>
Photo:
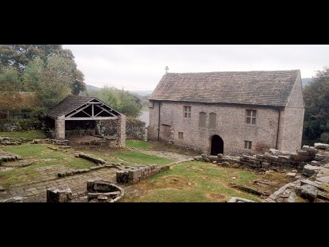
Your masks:
<svg viewBox="0 0 329 247"><path fill-rule="evenodd" d="M270 150L270 153L254 156L241 155L240 157L202 154L194 159L222 166L254 168L261 171L293 167L295 170L288 172L286 176L297 180L282 186L269 195L264 202L329 201L329 144L315 143L314 147L304 145L302 150L296 150L295 153ZM297 169L302 175L296 176ZM265 173L267 172L271 171ZM244 198L238 199L231 198L230 202L247 202Z"/></svg>

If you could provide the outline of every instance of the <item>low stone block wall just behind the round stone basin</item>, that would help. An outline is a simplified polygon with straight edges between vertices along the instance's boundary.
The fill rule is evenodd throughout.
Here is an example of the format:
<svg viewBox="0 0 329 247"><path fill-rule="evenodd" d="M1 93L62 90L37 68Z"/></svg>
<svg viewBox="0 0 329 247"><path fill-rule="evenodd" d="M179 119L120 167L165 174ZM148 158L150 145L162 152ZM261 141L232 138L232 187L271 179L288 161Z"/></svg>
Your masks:
<svg viewBox="0 0 329 247"><path fill-rule="evenodd" d="M169 165L159 167L157 165L140 165L138 167L129 167L117 172L118 183L136 183L149 176L169 170Z"/></svg>

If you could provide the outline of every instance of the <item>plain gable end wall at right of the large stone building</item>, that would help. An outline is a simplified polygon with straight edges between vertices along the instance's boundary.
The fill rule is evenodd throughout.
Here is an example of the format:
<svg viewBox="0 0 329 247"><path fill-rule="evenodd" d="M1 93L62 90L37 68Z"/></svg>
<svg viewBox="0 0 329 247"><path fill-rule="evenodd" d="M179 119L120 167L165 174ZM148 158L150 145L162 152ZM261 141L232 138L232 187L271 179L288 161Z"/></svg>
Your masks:
<svg viewBox="0 0 329 247"><path fill-rule="evenodd" d="M299 75L293 86L289 102L284 109L284 129L282 132L281 150L295 152L302 147L304 112L302 82Z"/></svg>

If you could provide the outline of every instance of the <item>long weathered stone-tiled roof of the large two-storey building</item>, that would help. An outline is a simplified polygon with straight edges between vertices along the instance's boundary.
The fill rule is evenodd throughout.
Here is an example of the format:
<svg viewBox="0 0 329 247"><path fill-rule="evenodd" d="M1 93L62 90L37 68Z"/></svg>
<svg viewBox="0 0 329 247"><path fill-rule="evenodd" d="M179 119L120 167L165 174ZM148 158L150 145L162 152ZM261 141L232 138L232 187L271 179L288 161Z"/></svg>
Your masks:
<svg viewBox="0 0 329 247"><path fill-rule="evenodd" d="M286 106L300 70L165 73L149 99Z"/></svg>

